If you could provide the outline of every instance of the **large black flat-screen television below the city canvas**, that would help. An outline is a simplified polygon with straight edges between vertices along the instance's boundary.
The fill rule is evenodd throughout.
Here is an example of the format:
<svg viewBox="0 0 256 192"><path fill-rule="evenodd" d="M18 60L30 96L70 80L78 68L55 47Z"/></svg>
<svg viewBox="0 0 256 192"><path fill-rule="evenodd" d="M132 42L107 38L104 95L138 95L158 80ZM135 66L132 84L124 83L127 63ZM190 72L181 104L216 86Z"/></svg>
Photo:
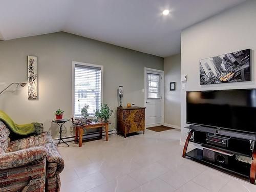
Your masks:
<svg viewBox="0 0 256 192"><path fill-rule="evenodd" d="M256 89L186 92L187 123L256 133Z"/></svg>

